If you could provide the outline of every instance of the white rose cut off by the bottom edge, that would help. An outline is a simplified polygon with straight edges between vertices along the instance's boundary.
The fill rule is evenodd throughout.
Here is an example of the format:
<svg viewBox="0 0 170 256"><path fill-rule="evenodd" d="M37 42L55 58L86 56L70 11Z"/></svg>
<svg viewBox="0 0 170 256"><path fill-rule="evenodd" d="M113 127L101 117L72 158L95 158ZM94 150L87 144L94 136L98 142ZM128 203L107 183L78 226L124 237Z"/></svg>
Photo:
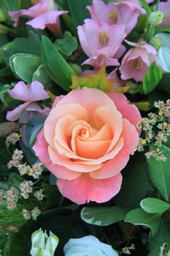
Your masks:
<svg viewBox="0 0 170 256"><path fill-rule="evenodd" d="M95 236L69 239L63 252L65 256L118 256L112 246L102 243Z"/></svg>

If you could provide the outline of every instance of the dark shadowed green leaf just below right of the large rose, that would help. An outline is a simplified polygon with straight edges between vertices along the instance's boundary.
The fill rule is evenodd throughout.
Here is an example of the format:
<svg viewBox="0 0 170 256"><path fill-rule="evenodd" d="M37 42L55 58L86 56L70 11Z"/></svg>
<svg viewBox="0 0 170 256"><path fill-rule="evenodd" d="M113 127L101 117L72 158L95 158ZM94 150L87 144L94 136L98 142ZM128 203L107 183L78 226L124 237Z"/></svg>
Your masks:
<svg viewBox="0 0 170 256"><path fill-rule="evenodd" d="M136 203L144 198L149 188L147 162L144 155L136 152L122 173L123 184L113 200L119 206L136 206Z"/></svg>

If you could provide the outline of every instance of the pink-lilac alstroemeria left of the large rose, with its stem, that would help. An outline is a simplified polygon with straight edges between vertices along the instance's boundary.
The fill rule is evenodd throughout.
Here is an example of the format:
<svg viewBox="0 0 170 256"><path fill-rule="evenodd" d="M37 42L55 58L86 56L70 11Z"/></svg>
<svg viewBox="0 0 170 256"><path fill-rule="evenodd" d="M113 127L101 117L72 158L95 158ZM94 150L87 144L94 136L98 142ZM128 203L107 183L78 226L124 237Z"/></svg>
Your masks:
<svg viewBox="0 0 170 256"><path fill-rule="evenodd" d="M39 81L34 81L30 85L26 85L23 81L20 81L13 89L8 90L8 93L13 99L19 99L25 102L14 110L7 112L6 118L8 121L16 121L19 119L18 121L20 123L26 124L31 117L48 116L50 108L37 102L42 99L50 98L44 86L42 86L42 83L39 83ZM27 145L25 126L20 128L20 134L23 138L23 142Z"/></svg>

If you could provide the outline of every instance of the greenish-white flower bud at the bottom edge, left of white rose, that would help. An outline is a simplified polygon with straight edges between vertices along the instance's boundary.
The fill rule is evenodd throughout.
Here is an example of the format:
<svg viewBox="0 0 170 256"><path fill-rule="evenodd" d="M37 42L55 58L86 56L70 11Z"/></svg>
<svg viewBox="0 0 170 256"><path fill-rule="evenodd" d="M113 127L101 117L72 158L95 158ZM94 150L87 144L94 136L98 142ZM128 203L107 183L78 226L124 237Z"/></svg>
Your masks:
<svg viewBox="0 0 170 256"><path fill-rule="evenodd" d="M31 256L53 256L58 241L58 237L51 231L50 236L47 236L46 231L43 232L41 228L34 231L31 235Z"/></svg>

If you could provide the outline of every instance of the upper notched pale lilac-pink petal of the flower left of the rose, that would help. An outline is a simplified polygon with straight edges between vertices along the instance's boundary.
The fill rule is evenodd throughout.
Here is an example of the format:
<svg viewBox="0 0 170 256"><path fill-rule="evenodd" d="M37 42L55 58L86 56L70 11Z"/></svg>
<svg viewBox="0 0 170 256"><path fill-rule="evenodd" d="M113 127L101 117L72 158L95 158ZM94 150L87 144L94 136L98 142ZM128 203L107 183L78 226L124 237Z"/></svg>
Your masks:
<svg viewBox="0 0 170 256"><path fill-rule="evenodd" d="M42 86L42 83L39 81L34 81L28 85L20 81L15 84L13 89L8 90L8 93L13 99L20 99L25 102L35 102L37 100L50 98L44 86Z"/></svg>

